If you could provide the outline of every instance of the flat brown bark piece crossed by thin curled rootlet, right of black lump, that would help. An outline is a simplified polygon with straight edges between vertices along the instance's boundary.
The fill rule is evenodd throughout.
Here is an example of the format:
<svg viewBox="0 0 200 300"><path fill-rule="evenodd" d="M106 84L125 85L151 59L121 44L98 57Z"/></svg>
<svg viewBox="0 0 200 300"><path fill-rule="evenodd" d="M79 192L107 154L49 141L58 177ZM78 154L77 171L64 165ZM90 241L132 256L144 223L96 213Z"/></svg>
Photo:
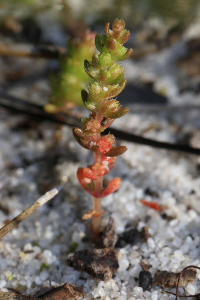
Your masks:
<svg viewBox="0 0 200 300"><path fill-rule="evenodd" d="M164 288L174 288L177 286L179 274L180 273L158 270L154 276L153 284L159 285ZM180 279L179 286L184 286L187 283L193 283L195 277L196 270L186 270Z"/></svg>

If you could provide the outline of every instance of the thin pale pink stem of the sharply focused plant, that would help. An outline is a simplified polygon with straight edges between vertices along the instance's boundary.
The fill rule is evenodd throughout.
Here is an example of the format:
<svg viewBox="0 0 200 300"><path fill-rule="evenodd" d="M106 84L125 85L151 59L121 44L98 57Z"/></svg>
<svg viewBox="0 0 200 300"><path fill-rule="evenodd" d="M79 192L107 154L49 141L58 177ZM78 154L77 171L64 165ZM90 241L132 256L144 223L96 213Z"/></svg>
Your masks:
<svg viewBox="0 0 200 300"><path fill-rule="evenodd" d="M103 115L101 113L96 113L96 120L101 122L103 118ZM96 142L101 137L100 133L97 133L93 137L93 141ZM94 152L94 163L101 163L101 153ZM103 176L97 178L94 180L94 190L95 193L100 193L103 187ZM93 198L93 210L96 211L96 213L99 213L99 216L93 216L92 217L92 231L95 234L98 234L100 231L100 221L101 221L101 199L100 198Z"/></svg>

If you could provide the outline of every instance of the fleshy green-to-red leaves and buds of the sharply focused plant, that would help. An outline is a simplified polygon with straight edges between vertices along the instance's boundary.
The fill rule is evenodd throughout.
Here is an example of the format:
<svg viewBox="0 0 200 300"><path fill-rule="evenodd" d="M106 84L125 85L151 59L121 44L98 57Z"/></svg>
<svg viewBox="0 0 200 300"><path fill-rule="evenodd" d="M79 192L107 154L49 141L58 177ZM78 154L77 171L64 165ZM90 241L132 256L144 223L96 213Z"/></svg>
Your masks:
<svg viewBox="0 0 200 300"><path fill-rule="evenodd" d="M90 111L89 118L80 119L82 128L74 128L76 141L84 148L98 155L98 161L79 168L77 176L80 184L94 197L101 198L114 192L120 185L120 179L109 182L104 190L95 189L95 180L106 175L114 166L116 157L123 154L125 146L115 147L115 137L112 134L100 136L112 122L126 114L129 109L121 108L116 96L124 89L124 67L116 61L128 58L132 49L123 44L129 39L130 32L125 28L122 19L116 19L109 29L106 23L104 35L97 34L95 45L100 52L92 55L92 61L84 61L85 72L94 80L88 85L88 91L82 90L82 101Z"/></svg>

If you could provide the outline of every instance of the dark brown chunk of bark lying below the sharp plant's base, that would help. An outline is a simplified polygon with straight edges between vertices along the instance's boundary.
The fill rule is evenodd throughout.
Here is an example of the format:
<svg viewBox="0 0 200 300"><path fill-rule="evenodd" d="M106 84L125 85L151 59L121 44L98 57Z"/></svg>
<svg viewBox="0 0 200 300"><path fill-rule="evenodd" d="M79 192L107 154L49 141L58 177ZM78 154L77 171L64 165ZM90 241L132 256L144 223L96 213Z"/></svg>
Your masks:
<svg viewBox="0 0 200 300"><path fill-rule="evenodd" d="M111 247L77 251L68 262L76 270L86 271L101 280L110 279L119 267L117 252Z"/></svg>

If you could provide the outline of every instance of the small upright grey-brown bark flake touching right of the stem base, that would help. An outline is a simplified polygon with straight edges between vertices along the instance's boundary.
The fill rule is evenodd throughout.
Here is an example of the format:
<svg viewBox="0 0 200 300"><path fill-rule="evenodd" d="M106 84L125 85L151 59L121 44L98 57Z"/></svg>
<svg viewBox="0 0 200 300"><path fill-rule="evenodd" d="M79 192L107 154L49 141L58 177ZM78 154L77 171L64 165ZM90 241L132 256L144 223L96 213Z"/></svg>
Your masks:
<svg viewBox="0 0 200 300"><path fill-rule="evenodd" d="M104 228L102 233L103 247L115 247L117 242L117 234L115 231L115 220L110 217L107 226Z"/></svg>

